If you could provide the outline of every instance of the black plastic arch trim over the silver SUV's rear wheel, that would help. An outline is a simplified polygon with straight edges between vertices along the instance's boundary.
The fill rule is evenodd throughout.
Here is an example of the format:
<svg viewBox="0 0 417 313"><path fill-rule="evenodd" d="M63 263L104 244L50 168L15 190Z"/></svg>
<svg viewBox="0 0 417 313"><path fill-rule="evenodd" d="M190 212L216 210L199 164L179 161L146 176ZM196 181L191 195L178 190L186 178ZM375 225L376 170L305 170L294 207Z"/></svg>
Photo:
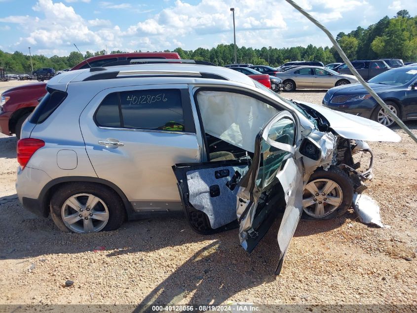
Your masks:
<svg viewBox="0 0 417 313"><path fill-rule="evenodd" d="M65 185L71 182L94 182L97 184L105 185L111 188L112 190L114 190L117 193L117 195L120 197L120 199L123 202L123 206L125 208L125 211L128 217L134 213L132 204L129 202L124 192L119 187L117 187L113 182L106 180L106 179L100 179L100 178L95 178L95 177L69 176L69 177L60 177L57 179L52 179L40 191L38 199L41 201L41 206L43 208L44 217L47 217L49 215L49 203L51 202L51 197L52 197L53 192L59 187L61 187L62 185Z"/></svg>

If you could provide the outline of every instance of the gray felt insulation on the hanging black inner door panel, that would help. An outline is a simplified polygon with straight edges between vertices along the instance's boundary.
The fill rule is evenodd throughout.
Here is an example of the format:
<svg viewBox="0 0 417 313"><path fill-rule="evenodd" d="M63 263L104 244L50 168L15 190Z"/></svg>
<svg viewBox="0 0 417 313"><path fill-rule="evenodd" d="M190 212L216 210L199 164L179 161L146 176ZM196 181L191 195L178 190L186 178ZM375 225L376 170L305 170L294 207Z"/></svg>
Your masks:
<svg viewBox="0 0 417 313"><path fill-rule="evenodd" d="M226 169L229 171L227 177L215 178L216 171ZM230 190L226 183L232 179L236 171L243 177L247 170L247 165L241 165L187 172L189 202L195 209L207 215L213 229L236 220L236 195L239 187L236 186L233 190ZM219 185L220 195L212 197L210 186L214 185Z"/></svg>

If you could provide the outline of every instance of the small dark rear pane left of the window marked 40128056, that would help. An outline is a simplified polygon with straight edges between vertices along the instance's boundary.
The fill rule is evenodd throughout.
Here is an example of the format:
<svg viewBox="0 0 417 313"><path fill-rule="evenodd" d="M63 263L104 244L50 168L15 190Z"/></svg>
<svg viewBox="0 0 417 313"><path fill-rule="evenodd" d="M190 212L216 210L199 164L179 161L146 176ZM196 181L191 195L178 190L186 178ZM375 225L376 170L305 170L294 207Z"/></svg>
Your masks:
<svg viewBox="0 0 417 313"><path fill-rule="evenodd" d="M120 127L119 93L108 94L95 114L96 124L104 127Z"/></svg>

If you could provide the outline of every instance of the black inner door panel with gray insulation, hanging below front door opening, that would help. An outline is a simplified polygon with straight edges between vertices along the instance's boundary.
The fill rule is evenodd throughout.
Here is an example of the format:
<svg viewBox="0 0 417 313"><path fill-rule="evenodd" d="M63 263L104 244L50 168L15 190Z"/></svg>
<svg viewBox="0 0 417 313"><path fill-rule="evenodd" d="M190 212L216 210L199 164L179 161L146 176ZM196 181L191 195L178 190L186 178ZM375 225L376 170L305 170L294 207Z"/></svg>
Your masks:
<svg viewBox="0 0 417 313"><path fill-rule="evenodd" d="M212 234L236 228L236 194L240 179L247 173L248 161L217 161L176 164L184 211L191 228Z"/></svg>

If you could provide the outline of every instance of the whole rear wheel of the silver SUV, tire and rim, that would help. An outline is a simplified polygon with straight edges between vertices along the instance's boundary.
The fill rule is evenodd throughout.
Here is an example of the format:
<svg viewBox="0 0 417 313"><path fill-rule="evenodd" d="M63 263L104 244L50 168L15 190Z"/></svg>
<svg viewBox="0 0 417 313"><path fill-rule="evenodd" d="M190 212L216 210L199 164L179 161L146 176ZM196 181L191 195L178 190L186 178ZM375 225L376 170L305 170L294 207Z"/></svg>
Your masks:
<svg viewBox="0 0 417 313"><path fill-rule="evenodd" d="M89 201L93 201L90 208ZM78 205L77 210L74 203ZM92 182L70 182L54 190L50 212L55 225L65 232L114 230L126 219L118 194L105 185Z"/></svg>

